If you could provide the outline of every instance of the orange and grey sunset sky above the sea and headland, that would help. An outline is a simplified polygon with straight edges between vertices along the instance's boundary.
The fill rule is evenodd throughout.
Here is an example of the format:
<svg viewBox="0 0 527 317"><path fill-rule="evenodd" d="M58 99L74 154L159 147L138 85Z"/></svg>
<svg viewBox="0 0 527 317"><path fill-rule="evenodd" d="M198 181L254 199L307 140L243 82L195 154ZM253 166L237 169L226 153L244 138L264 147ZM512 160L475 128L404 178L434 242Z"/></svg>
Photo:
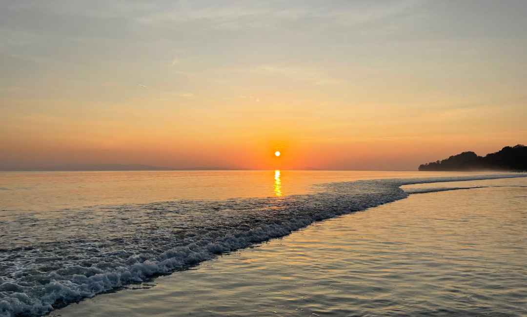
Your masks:
<svg viewBox="0 0 527 317"><path fill-rule="evenodd" d="M0 0L0 169L415 170L527 143L526 17L524 0Z"/></svg>

